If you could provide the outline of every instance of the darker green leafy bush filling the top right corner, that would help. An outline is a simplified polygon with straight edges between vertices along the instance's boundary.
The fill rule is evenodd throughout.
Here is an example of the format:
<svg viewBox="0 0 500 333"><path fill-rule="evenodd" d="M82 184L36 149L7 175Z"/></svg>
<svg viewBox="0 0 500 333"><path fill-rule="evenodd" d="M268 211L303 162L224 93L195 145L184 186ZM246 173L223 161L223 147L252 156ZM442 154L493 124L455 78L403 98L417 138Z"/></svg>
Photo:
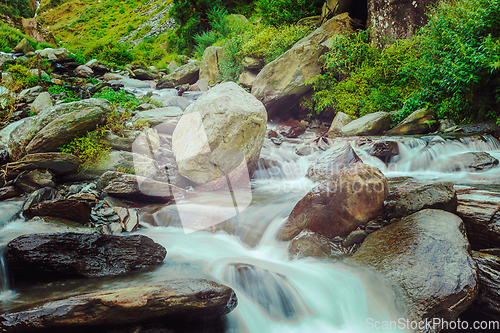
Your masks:
<svg viewBox="0 0 500 333"><path fill-rule="evenodd" d="M420 89L398 118L425 105L459 121L498 117L500 0L440 2L420 35Z"/></svg>

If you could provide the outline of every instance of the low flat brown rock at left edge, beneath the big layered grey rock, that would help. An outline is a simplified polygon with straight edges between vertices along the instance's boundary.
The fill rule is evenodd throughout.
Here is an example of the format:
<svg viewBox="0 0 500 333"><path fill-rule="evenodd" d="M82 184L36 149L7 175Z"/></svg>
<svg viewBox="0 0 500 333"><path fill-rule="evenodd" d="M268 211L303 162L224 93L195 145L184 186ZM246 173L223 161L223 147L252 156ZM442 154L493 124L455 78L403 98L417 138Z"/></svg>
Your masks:
<svg viewBox="0 0 500 333"><path fill-rule="evenodd" d="M48 169L55 175L61 175L75 171L80 165L80 159L71 154L65 153L40 153L29 154L17 162L7 165L7 170L13 170L13 177L17 176L19 171ZM10 174L7 174L10 178Z"/></svg>

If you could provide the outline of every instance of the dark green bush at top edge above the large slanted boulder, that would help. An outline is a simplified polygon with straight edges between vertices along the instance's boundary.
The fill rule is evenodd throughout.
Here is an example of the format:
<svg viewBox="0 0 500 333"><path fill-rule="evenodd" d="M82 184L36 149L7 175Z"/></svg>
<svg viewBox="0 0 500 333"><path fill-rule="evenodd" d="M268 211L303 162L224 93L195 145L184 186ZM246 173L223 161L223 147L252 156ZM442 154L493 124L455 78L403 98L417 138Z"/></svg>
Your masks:
<svg viewBox="0 0 500 333"><path fill-rule="evenodd" d="M304 17L319 14L324 0L258 0L257 13L267 24L296 23Z"/></svg>

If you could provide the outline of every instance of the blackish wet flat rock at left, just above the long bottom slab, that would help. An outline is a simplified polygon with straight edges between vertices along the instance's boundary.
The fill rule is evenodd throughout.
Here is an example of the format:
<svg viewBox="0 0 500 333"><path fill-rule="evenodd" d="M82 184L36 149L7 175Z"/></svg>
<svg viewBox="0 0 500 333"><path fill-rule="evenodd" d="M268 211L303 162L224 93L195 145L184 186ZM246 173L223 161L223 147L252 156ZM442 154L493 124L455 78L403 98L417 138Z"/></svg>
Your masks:
<svg viewBox="0 0 500 333"><path fill-rule="evenodd" d="M37 234L9 242L5 262L15 284L127 274L161 265L166 253L142 235Z"/></svg>

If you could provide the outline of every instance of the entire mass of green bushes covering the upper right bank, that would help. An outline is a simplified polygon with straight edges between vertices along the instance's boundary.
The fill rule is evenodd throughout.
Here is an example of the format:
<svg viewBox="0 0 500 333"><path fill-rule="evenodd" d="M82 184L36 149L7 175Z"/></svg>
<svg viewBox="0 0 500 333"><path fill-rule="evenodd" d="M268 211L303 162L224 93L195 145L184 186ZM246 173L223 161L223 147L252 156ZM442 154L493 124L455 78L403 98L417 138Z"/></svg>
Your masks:
<svg viewBox="0 0 500 333"><path fill-rule="evenodd" d="M382 49L366 32L339 36L323 57L309 103L351 117L432 107L438 117L472 121L500 114L500 0L440 2L410 40Z"/></svg>

